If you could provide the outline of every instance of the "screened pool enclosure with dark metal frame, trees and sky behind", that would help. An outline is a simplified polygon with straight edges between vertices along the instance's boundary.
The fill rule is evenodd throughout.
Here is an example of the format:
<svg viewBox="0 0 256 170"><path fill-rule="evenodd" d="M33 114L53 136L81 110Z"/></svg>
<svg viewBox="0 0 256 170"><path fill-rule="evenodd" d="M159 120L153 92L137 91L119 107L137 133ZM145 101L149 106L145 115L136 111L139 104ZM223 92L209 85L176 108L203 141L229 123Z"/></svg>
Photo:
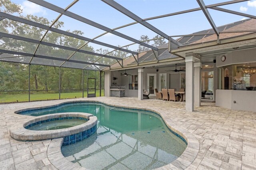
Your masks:
<svg viewBox="0 0 256 170"><path fill-rule="evenodd" d="M255 33L219 27L256 19L233 10L246 1L133 1L132 8L122 0L0 0L0 102L104 96L105 71L174 66L186 57L177 50L204 44L200 39L220 45ZM155 3L159 15L150 16ZM183 10L175 11L177 6ZM218 20L225 16L233 20ZM222 53L203 51L200 60L209 63Z"/></svg>

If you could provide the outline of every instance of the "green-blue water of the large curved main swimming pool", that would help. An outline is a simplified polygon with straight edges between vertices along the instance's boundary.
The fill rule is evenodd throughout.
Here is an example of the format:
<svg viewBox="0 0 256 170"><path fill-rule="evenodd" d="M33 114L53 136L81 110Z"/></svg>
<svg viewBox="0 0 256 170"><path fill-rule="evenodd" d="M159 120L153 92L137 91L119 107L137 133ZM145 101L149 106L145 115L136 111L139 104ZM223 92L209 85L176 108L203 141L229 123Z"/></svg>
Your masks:
<svg viewBox="0 0 256 170"><path fill-rule="evenodd" d="M86 112L98 118L97 133L62 147L62 154L68 160L88 169L159 168L176 160L186 149L186 143L166 127L162 118L148 111L84 102L22 114L62 112Z"/></svg>

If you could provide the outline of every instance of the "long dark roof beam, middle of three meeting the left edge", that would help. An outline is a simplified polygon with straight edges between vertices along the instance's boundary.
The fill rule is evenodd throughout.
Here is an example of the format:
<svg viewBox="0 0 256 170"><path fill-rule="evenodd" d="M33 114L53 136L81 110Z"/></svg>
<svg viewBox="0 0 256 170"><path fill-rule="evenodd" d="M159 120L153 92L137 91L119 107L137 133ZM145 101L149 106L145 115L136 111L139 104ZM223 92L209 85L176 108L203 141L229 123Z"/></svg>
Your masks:
<svg viewBox="0 0 256 170"><path fill-rule="evenodd" d="M123 60L122 58L118 58L118 57L113 57L113 56L109 56L109 55L103 55L103 54L94 53L94 52L91 52L91 51L75 49L75 48L72 48L72 47L66 47L66 46L63 46L63 45L48 43L48 42L39 41L39 40L35 40L35 39L30 39L30 38L26 38L26 37L20 37L18 35L11 35L11 34L8 34L8 33L0 32L0 36L11 38L11 39L17 39L17 40L21 40L21 41L26 41L26 42L30 42L30 43L35 43L35 44L46 45L46 46L50 46L50 47L56 47L56 48L65 49L65 50L69 50L69 51L76 51L76 52L80 52L80 53L84 53L84 54L90 54L90 55L96 55L96 56L100 56L100 57L106 57L106 58L109 58L109 59Z"/></svg>

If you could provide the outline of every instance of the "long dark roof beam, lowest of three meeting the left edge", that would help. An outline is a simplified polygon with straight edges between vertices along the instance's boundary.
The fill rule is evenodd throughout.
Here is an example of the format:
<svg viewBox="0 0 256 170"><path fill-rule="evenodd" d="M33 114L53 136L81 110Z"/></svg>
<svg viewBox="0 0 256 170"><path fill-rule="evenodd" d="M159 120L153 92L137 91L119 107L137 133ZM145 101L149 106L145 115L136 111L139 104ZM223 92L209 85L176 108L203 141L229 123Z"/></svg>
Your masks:
<svg viewBox="0 0 256 170"><path fill-rule="evenodd" d="M58 57L49 57L49 56L45 56L45 55L34 55L34 54L30 54L30 53L22 53L22 52L8 51L8 50L2 50L2 49L0 49L0 53L23 55L23 56L40 58L40 59L56 60L56 61L66 61L67 60L67 59L62 59L62 58L58 58ZM110 65L106 65L106 64L89 63L89 62L85 62L85 61L68 60L68 62L70 62L70 63L79 63L79 64L91 64L91 65L94 65L94 66L110 67ZM16 63L18 63L18 62L16 62ZM38 65L40 65L40 64L38 64Z"/></svg>

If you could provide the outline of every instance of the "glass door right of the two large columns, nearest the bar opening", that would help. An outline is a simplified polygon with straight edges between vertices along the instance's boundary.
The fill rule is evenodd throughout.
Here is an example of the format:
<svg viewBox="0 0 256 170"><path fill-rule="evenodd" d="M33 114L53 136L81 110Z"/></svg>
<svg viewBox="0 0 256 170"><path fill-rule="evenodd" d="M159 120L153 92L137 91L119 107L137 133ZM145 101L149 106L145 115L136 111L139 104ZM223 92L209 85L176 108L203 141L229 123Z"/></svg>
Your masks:
<svg viewBox="0 0 256 170"><path fill-rule="evenodd" d="M201 99L214 100L214 71L203 71L201 72L201 76Z"/></svg>

